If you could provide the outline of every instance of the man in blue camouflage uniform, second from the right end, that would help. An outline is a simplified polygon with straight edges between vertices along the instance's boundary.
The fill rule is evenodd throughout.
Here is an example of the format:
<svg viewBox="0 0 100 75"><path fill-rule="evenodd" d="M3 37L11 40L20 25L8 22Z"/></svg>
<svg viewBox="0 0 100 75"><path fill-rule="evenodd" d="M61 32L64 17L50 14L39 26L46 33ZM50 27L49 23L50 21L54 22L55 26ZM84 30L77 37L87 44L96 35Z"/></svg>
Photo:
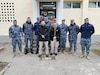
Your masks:
<svg viewBox="0 0 100 75"><path fill-rule="evenodd" d="M72 53L72 49L74 47L74 55L75 55L75 52L76 52L76 49L77 49L77 35L79 33L79 26L75 24L74 22L74 19L71 20L71 24L68 28L68 31L69 31L69 44L70 44L70 52Z"/></svg>

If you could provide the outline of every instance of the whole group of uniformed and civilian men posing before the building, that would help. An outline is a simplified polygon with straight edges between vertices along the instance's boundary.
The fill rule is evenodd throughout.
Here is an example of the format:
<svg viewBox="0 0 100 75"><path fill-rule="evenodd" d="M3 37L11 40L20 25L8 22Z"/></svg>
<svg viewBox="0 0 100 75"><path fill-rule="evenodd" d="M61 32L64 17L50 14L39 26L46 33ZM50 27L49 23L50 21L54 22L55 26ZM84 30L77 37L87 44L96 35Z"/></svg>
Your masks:
<svg viewBox="0 0 100 75"><path fill-rule="evenodd" d="M34 35L35 32L35 35ZM37 22L34 25L31 22L31 18L28 17L27 21L20 27L17 24L17 20L13 20L13 25L9 28L9 37L12 40L13 53L16 56L16 44L18 44L20 54L22 54L22 39L24 37L25 48L24 53L28 54L29 51L34 54L33 50L33 36L36 38L36 52L39 57L43 54L43 47L45 47L46 57L58 55L58 52L64 53L66 50L66 38L68 33L68 41L70 45L70 53L75 55L77 50L77 38L78 33L81 33L81 47L82 56L89 58L91 35L95 32L92 24L89 23L89 19L84 19L84 24L80 27L75 23L74 19L71 19L70 25L65 24L65 19L62 19L62 23L58 24L56 19L51 16L49 19L45 17L37 17ZM30 47L28 46L30 42ZM60 48L58 50L58 47ZM50 50L49 50L50 49ZM74 51L74 52L73 52Z"/></svg>

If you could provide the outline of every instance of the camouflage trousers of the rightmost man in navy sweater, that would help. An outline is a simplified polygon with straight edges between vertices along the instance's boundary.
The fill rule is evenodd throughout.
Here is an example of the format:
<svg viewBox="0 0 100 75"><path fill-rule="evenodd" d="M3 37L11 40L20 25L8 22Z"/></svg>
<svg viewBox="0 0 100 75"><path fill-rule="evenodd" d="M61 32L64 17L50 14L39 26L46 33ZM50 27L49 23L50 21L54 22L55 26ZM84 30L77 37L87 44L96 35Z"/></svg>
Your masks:
<svg viewBox="0 0 100 75"><path fill-rule="evenodd" d="M90 46L91 46L91 38L88 38L88 39L81 38L82 53L85 52L85 48L86 48L86 52L89 53Z"/></svg>

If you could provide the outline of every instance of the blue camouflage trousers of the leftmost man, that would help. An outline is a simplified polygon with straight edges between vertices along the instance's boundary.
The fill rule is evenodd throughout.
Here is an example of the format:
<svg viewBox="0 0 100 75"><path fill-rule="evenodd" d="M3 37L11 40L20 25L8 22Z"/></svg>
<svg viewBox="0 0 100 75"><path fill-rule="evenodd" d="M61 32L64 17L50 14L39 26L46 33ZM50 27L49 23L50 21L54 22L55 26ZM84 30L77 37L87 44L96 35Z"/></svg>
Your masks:
<svg viewBox="0 0 100 75"><path fill-rule="evenodd" d="M19 51L22 51L22 41L20 38L15 39L12 38L12 46L13 46L13 52L16 52L16 45L18 44Z"/></svg>

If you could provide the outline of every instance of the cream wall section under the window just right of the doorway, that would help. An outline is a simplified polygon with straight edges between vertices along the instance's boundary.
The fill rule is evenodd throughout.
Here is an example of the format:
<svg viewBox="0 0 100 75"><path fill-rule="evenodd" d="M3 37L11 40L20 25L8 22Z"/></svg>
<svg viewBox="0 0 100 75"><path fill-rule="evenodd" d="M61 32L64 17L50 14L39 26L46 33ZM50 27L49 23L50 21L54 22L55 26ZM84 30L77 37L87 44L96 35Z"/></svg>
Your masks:
<svg viewBox="0 0 100 75"><path fill-rule="evenodd" d="M70 24L71 19L75 19L77 25L82 24L81 9L63 9L63 17L66 19L66 24Z"/></svg>

